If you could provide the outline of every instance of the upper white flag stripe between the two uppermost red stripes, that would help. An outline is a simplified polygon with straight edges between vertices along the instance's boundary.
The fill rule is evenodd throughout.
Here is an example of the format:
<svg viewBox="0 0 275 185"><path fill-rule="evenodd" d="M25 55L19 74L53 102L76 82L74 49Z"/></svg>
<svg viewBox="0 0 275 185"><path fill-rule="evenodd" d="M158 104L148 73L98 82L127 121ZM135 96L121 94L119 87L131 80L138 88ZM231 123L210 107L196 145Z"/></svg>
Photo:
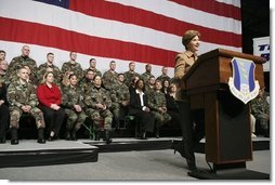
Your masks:
<svg viewBox="0 0 275 185"><path fill-rule="evenodd" d="M232 17L224 17L214 15L200 10L187 8L175 2L167 0L106 0L109 2L117 2L123 5L130 5L154 12L157 14L166 15L179 21L195 25L204 25L207 28L224 30L241 35L241 22ZM196 16L194 16L196 15ZM232 27L232 25L235 25Z"/></svg>

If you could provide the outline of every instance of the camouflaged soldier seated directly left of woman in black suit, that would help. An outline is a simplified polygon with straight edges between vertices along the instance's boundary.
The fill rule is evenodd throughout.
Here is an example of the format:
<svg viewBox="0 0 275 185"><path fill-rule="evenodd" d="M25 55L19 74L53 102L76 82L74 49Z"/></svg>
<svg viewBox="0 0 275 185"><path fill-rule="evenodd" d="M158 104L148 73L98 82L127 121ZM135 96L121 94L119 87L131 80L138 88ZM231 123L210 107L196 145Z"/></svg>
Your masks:
<svg viewBox="0 0 275 185"><path fill-rule="evenodd" d="M110 91L112 98L112 113L114 114L114 119L116 121L116 129L119 129L120 121L123 120L125 116L128 114L130 93L129 88L125 84L125 75L118 75L118 82L114 85Z"/></svg>

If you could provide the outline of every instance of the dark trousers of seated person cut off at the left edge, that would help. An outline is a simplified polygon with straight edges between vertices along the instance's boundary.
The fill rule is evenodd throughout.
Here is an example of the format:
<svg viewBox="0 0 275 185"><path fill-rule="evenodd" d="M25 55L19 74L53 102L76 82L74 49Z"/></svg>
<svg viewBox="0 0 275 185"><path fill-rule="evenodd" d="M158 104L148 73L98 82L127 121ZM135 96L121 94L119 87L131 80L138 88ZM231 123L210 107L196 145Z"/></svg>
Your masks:
<svg viewBox="0 0 275 185"><path fill-rule="evenodd" d="M5 136L6 127L10 124L10 110L4 104L0 106L0 138Z"/></svg>

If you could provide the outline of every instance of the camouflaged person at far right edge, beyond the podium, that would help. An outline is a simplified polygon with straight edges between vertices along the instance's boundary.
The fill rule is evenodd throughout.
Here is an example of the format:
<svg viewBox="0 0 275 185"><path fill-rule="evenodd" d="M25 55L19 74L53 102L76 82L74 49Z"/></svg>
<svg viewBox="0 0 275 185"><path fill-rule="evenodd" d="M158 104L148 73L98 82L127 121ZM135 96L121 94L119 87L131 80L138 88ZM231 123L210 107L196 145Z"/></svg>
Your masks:
<svg viewBox="0 0 275 185"><path fill-rule="evenodd" d="M260 123L260 132L265 137L270 136L270 104L266 100L264 89L261 89L259 95L251 101L251 114L256 121Z"/></svg>

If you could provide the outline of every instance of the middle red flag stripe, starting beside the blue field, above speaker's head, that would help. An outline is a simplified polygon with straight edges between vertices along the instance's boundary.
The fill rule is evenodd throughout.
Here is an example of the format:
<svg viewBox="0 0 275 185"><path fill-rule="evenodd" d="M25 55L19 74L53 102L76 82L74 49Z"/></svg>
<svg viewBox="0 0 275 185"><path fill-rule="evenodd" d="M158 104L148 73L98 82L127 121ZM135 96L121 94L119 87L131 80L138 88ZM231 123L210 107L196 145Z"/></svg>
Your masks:
<svg viewBox="0 0 275 185"><path fill-rule="evenodd" d="M201 40L205 42L241 48L241 35L206 28L119 3L102 0L71 0L69 9L87 15L144 26L176 36L182 36L184 30L196 29L200 31Z"/></svg>

